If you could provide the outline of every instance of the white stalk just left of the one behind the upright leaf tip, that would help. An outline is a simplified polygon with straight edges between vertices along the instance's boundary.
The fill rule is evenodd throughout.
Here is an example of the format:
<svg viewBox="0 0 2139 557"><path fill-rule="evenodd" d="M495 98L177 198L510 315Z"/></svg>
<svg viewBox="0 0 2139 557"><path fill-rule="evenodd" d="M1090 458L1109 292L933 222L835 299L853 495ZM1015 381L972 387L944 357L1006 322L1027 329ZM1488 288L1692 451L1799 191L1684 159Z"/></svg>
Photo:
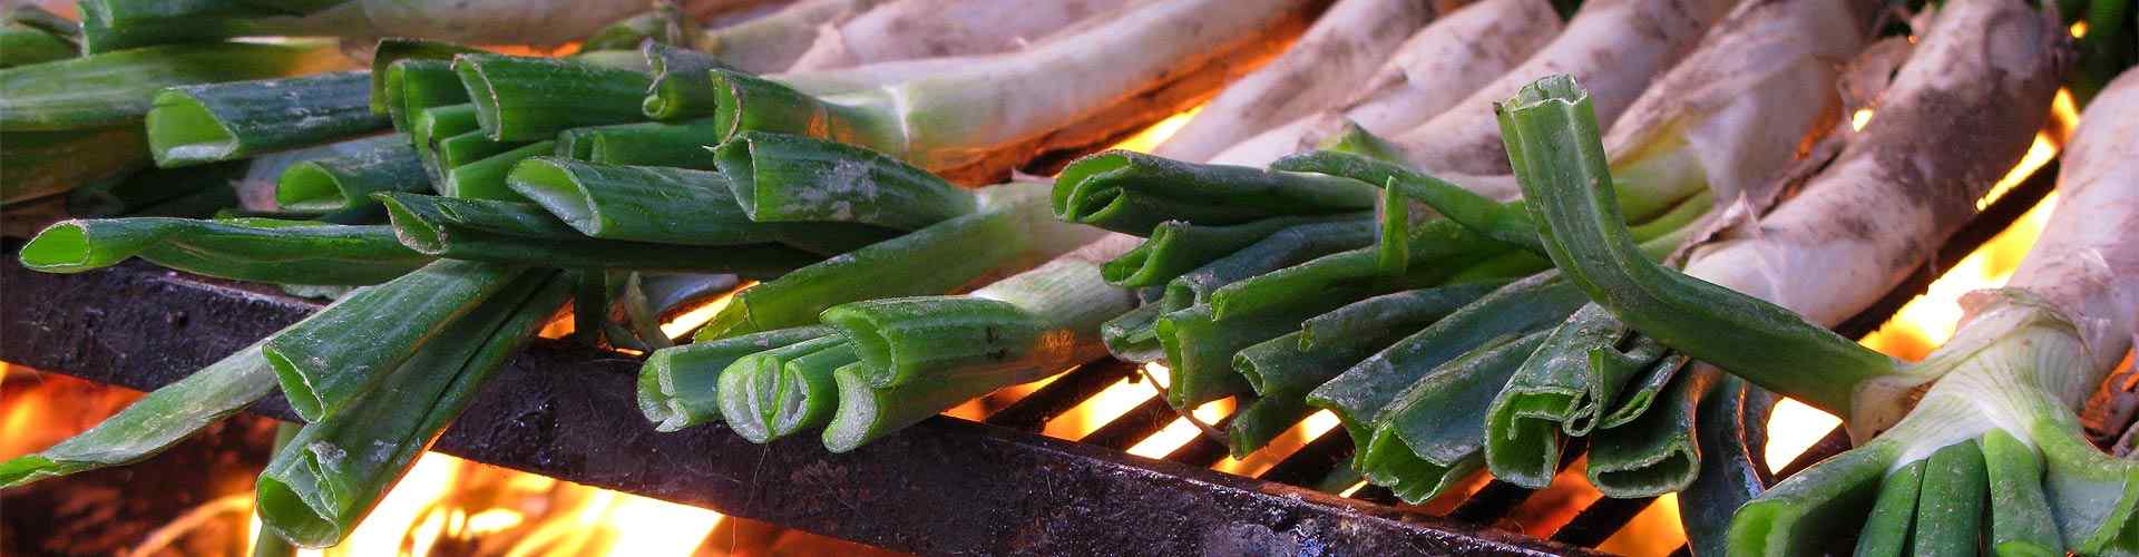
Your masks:
<svg viewBox="0 0 2139 557"><path fill-rule="evenodd" d="M1480 0L1448 11L1405 39L1373 77L1363 79L1365 86L1352 86L1360 79L1333 79L1343 84L1348 94L1335 109L1275 124L1209 159L1219 165L1268 165L1279 156L1320 146L1322 139L1343 131L1345 122L1356 122L1373 135L1410 131L1521 64L1559 34L1559 13L1546 0ZM1217 105L1206 107L1211 109ZM1273 116L1258 122L1277 120Z"/></svg>

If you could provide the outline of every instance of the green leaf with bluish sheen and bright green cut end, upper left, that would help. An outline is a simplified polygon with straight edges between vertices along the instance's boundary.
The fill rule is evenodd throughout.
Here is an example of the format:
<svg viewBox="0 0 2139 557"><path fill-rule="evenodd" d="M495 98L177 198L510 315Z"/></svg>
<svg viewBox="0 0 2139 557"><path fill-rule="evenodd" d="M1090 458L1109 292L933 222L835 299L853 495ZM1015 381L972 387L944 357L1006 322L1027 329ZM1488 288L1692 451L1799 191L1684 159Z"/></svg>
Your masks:
<svg viewBox="0 0 2139 557"><path fill-rule="evenodd" d="M387 129L387 118L370 111L368 90L361 71L167 88L148 111L150 154L158 167L182 167Z"/></svg>

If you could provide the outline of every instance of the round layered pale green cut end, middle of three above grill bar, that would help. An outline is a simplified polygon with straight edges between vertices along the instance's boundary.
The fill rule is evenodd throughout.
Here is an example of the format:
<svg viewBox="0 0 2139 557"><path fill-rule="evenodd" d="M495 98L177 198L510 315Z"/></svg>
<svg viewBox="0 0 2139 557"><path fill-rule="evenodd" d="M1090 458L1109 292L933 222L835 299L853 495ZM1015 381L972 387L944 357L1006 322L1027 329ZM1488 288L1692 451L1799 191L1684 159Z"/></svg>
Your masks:
<svg viewBox="0 0 2139 557"><path fill-rule="evenodd" d="M828 351L828 358L845 360L845 364L860 362L853 343L847 343L838 334L742 356L721 371L721 418L736 435L751 443L766 443L781 437L774 428L783 413L811 413L804 409L811 403L821 409L824 420L832 418L830 388L836 366L819 368L824 375L817 377L821 381L815 386L809 383L811 377L789 375L787 371L789 364L798 364L819 351Z"/></svg>

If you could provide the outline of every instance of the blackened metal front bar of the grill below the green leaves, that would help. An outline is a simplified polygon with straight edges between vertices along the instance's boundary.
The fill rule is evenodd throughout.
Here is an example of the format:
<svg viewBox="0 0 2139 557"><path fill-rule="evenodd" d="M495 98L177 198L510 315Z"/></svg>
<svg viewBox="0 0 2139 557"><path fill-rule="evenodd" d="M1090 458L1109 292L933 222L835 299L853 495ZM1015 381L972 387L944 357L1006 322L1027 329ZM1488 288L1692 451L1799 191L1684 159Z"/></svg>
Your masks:
<svg viewBox="0 0 2139 557"><path fill-rule="evenodd" d="M6 251L9 261L15 246ZM130 388L214 362L317 304L143 264L0 266L0 360ZM950 418L849 454L655 433L635 358L537 343L436 450L886 548L1044 555L1544 555L1583 548ZM291 418L280 403L255 411Z"/></svg>

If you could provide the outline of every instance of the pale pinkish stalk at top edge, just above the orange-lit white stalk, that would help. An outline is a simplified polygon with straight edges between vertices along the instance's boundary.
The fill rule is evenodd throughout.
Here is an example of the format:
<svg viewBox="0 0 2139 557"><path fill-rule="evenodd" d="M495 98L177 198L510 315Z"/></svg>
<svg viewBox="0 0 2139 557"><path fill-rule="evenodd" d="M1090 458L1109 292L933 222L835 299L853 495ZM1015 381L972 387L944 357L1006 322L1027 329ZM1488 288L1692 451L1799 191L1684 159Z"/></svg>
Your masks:
<svg viewBox="0 0 2139 557"><path fill-rule="evenodd" d="M821 26L789 73L871 62L1012 51L1129 0L892 0Z"/></svg>

